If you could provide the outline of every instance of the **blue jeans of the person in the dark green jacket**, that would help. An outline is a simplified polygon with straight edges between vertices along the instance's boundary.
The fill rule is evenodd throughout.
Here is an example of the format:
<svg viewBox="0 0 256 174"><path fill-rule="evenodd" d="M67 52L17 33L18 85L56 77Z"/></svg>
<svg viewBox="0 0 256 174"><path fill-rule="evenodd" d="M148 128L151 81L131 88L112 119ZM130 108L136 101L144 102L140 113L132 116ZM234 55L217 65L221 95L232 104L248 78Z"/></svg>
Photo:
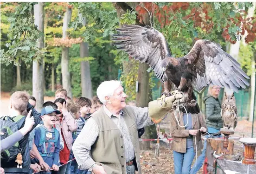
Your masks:
<svg viewBox="0 0 256 174"><path fill-rule="evenodd" d="M217 133L220 130L217 130L216 128L213 127L207 127L208 128L208 132L209 133ZM213 138L220 138L221 134L219 136L213 137ZM205 136L205 138L209 138L209 135L207 134ZM197 158L196 163L193 165L190 174L196 174L202 167L203 163L204 163L204 159L206 158L206 146L207 146L207 139L204 140L204 144L203 144L203 150L202 153L200 154L200 156Z"/></svg>

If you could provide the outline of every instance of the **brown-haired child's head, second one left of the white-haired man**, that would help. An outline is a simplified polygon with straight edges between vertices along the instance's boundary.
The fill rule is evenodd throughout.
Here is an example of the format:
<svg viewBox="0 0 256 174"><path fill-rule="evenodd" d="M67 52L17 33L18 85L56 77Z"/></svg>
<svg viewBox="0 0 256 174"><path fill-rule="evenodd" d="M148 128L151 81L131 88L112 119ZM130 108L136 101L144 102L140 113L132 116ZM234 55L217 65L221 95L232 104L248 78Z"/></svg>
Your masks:
<svg viewBox="0 0 256 174"><path fill-rule="evenodd" d="M78 99L76 99L75 103L80 106L80 116L86 120L91 110L91 100L85 98L84 96L80 96Z"/></svg>

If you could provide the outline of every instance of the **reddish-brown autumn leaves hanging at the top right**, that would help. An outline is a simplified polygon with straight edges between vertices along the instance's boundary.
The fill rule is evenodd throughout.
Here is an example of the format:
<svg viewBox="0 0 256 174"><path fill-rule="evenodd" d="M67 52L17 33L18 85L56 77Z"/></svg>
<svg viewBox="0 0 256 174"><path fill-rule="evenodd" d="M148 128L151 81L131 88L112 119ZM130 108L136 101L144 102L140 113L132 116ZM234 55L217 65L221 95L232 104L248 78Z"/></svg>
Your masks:
<svg viewBox="0 0 256 174"><path fill-rule="evenodd" d="M156 19L161 24L161 28L165 25L170 24L172 21L177 20L177 14L183 13L183 20L193 20L194 28L201 28L202 31L210 33L212 29L216 27L216 23L213 21L213 16L209 15L210 12L214 12L213 3L202 3L200 7L194 7L192 3L188 2L174 2L164 5L163 7L158 7L157 4L152 2L141 2L136 7L138 13L139 22L142 23L145 14L152 13L156 16ZM187 10L189 14L184 14L184 10ZM246 11L237 11L234 16L230 15L226 20L231 21L232 24L238 26L240 31L236 35L244 35L245 30L247 30L248 35L245 40L246 43L254 41L256 35L256 20L255 17L246 18ZM230 25L222 26L222 37L226 41L235 43L236 40L232 40L231 35L228 32Z"/></svg>

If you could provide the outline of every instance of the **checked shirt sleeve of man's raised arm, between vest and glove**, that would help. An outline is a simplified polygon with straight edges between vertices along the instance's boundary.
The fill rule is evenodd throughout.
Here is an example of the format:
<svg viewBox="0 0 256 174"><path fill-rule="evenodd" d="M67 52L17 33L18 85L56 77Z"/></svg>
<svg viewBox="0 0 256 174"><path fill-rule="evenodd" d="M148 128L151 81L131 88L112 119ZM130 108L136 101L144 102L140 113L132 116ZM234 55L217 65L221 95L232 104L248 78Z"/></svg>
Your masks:
<svg viewBox="0 0 256 174"><path fill-rule="evenodd" d="M149 117L149 108L148 107L136 107L136 106L127 106L131 107L133 110L133 113L135 115L135 121L137 124L137 130L140 128L150 126L153 123L151 118Z"/></svg>

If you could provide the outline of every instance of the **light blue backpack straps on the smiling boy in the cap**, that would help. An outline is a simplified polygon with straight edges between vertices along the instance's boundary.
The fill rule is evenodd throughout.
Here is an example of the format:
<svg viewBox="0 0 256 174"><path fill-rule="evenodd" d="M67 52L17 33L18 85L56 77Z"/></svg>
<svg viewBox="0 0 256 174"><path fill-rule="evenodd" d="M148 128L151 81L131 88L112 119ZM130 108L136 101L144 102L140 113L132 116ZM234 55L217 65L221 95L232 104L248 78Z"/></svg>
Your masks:
<svg viewBox="0 0 256 174"><path fill-rule="evenodd" d="M41 135L40 135L40 141L39 141L39 147L43 146L44 152L39 152L42 157L53 157L53 152L47 152L46 150L46 143L54 142L54 146L57 146L58 138L59 138L59 131L54 128L54 140L46 139L46 130L43 126L37 127L40 129Z"/></svg>

